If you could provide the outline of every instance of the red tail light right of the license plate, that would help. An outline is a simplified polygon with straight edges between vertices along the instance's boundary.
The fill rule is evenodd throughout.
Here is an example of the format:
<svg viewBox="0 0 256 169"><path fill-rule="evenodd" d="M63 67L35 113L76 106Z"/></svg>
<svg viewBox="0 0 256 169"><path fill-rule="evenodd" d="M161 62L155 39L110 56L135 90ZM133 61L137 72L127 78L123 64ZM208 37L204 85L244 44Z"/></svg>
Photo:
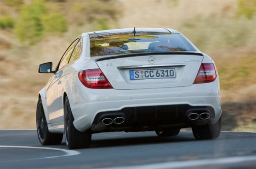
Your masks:
<svg viewBox="0 0 256 169"><path fill-rule="evenodd" d="M216 77L215 65L213 63L202 63L194 84L213 82Z"/></svg>

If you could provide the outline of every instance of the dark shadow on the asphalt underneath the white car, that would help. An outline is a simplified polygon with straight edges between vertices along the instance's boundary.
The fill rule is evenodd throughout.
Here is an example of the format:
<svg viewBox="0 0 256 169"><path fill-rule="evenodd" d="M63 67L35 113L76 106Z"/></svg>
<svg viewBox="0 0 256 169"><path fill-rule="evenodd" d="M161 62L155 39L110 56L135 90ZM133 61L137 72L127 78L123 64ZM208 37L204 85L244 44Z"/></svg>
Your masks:
<svg viewBox="0 0 256 169"><path fill-rule="evenodd" d="M159 137L149 134L139 135L135 133L118 133L117 135L114 133L104 133L104 135L93 134L90 148L101 148L101 147L117 147L117 146L130 146L130 145L149 145L149 144L165 144L165 143L178 143L178 142L219 142L223 139L234 139L234 133L229 132L221 132L220 137L218 139L210 139L210 140L196 140L194 139L192 132L180 132L179 135L169 136L169 137ZM120 135L119 135L120 134ZM235 135L239 136L242 133L235 133ZM116 137L116 138L114 138ZM248 137L252 137L252 135L248 134ZM61 146L65 146L65 139L63 138ZM89 148L89 149L90 149Z"/></svg>

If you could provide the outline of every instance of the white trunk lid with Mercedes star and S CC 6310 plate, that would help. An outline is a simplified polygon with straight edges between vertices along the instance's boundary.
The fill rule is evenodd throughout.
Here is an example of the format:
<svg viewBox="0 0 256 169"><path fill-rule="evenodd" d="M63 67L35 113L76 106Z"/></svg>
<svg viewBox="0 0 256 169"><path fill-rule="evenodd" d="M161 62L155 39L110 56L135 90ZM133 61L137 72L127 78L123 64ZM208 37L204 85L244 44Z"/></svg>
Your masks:
<svg viewBox="0 0 256 169"><path fill-rule="evenodd" d="M203 54L173 52L93 59L116 90L173 88L193 84Z"/></svg>

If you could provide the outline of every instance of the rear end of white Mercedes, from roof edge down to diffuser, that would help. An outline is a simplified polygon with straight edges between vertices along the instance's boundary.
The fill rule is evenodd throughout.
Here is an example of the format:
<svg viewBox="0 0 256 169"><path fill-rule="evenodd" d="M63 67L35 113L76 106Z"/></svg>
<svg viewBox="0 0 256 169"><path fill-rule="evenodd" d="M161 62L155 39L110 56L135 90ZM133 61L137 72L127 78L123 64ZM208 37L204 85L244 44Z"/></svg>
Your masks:
<svg viewBox="0 0 256 169"><path fill-rule="evenodd" d="M140 28L89 36L90 67L79 71L81 85L73 94L78 130L138 132L219 120L214 62L177 31Z"/></svg>

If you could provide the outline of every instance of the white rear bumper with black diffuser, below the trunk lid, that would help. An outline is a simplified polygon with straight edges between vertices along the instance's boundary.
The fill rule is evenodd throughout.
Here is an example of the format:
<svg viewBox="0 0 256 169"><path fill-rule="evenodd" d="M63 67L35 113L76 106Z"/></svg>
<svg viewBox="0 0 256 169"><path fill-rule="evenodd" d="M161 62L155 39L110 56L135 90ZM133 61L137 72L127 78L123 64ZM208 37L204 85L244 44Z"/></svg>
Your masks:
<svg viewBox="0 0 256 169"><path fill-rule="evenodd" d="M79 131L85 131L111 115L125 116L124 128L137 125L189 127L193 125L187 121L191 109L208 110L211 117L207 123L210 124L221 116L217 81L180 88L140 90L95 90L80 86L68 97L75 118L74 126ZM198 121L196 125L200 124Z"/></svg>

